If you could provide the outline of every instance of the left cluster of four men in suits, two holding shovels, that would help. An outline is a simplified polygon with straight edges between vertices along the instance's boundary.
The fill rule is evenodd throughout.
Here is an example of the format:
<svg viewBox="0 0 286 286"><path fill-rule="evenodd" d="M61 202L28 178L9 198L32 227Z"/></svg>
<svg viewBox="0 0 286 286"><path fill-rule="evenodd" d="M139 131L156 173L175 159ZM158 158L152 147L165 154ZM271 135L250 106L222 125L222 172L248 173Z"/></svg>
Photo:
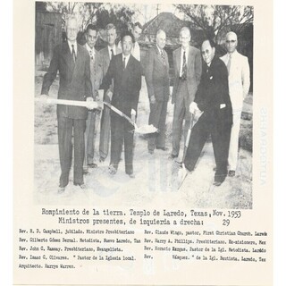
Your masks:
<svg viewBox="0 0 286 286"><path fill-rule="evenodd" d="M86 44L77 43L79 26L71 16L66 21L67 41L55 46L48 71L42 84L41 95L47 96L59 71L59 99L87 101L87 107L73 105L57 106L58 143L61 163L59 192L69 183L72 161L72 134L74 146L73 184L85 189L84 172L95 168L94 135L98 110L98 89L104 89L104 101L111 103L135 121L139 90L141 88L141 65L131 55L135 38L131 32L122 35L122 47L115 45L117 38L114 24L106 26L107 46L97 52L97 29L88 25ZM111 130L111 163L109 172L117 171L124 142L125 171L133 175L132 125L104 108L101 116L99 154L100 161L108 155Z"/></svg>

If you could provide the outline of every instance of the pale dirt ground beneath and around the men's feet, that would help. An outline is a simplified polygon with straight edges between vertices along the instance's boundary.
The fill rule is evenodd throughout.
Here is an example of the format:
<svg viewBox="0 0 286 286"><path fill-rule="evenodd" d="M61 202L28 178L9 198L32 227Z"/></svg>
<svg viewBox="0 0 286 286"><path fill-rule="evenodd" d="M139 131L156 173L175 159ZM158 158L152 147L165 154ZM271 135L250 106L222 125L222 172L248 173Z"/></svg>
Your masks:
<svg viewBox="0 0 286 286"><path fill-rule="evenodd" d="M43 72L35 77L35 96L40 94ZM50 89L50 97L57 97L58 80ZM124 172L124 162L118 172L108 172L109 156L104 163L98 162L99 122L95 141L96 169L89 169L85 176L87 189L80 189L70 183L61 195L57 193L60 176L60 162L57 145L57 122L55 105L35 103L35 202L46 205L92 205L92 206L180 206L193 208L252 208L252 95L244 104L241 120L240 154L236 176L228 177L220 187L214 187L214 153L211 141L206 143L194 172L188 174L178 189L179 168L168 159L172 150L172 108L169 103L167 114L166 147L169 151L147 152L147 139L136 134L134 150L135 179ZM146 85L140 93L138 125L147 124L149 106ZM182 156L183 140L181 141ZM123 155L122 155L123 158Z"/></svg>

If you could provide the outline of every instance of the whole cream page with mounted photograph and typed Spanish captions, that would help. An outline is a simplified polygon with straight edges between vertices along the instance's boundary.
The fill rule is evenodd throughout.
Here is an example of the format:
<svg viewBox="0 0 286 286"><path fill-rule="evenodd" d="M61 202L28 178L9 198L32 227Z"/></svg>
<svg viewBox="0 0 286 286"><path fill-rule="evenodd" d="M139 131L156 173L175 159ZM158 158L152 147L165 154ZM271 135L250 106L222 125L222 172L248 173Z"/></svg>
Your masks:
<svg viewBox="0 0 286 286"><path fill-rule="evenodd" d="M272 1L13 11L14 285L272 285Z"/></svg>

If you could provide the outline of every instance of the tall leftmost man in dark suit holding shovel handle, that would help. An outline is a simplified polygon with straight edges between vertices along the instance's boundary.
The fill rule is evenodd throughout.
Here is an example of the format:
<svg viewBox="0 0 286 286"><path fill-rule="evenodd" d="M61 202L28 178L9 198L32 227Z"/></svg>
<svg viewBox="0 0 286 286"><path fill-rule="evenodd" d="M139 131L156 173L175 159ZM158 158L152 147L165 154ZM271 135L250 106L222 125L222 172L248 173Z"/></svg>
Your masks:
<svg viewBox="0 0 286 286"><path fill-rule="evenodd" d="M66 21L67 42L55 46L54 55L43 80L42 95L47 95L50 86L59 71L60 87L59 99L92 100L92 86L90 81L90 67L88 51L77 44L78 24L71 16ZM90 97L90 98L89 98ZM58 105L58 142L61 163L61 177L59 192L63 192L69 183L71 169L72 144L71 135L74 136L74 166L73 183L84 188L83 160L84 160L84 131L88 109L86 107Z"/></svg>

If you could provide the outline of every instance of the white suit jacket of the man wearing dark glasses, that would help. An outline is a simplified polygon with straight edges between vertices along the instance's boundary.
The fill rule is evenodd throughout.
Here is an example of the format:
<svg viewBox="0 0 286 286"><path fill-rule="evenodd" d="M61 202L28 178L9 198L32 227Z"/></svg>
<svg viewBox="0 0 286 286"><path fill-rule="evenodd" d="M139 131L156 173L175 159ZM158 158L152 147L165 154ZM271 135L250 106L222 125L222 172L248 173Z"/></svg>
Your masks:
<svg viewBox="0 0 286 286"><path fill-rule="evenodd" d="M227 66L229 54L221 57ZM248 58L235 51L231 55L231 71L229 74L230 97L233 110L241 110L243 99L248 95L250 87L250 71Z"/></svg>

